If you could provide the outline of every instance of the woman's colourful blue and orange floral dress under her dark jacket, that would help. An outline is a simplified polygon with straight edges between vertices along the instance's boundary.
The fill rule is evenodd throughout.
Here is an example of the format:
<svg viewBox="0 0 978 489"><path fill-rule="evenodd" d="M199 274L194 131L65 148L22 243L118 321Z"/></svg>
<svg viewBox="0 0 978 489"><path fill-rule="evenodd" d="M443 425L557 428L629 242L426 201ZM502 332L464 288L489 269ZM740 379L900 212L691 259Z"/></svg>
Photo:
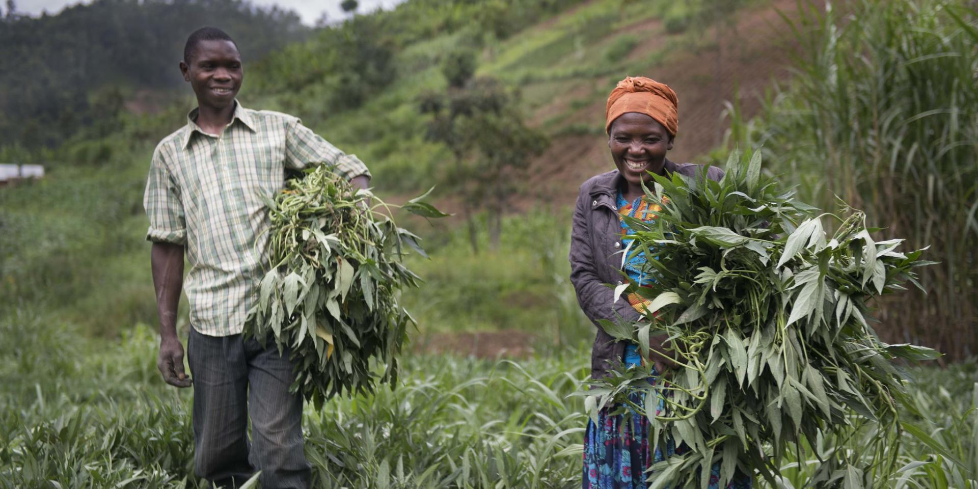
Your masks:
<svg viewBox="0 0 978 489"><path fill-rule="evenodd" d="M618 213L622 217L621 228L622 236L631 233L628 225L625 224L624 216L630 216L644 221L655 219L654 212L661 210L655 203L649 203L643 198L629 202L618 193L617 198ZM628 249L631 240L622 238L622 248ZM651 277L643 276L643 265L645 255L639 253L626 261L624 270L629 277L639 285L645 286L654 283ZM633 305L641 304L643 299L636 295L628 297ZM625 365L638 365L642 361L639 356L639 347L630 344L625 349ZM653 384L655 378L649 379ZM632 396L632 402L639 406L645 404L644 396L636 393ZM660 414L664 409L664 402L660 399L655 409L656 414ZM640 489L648 487L645 479L648 473L645 470L654 462L661 462L665 457L682 454L688 448L682 445L677 448L672 441L665 447L663 454L660 447L649 447L649 422L645 416L632 413L634 416L610 415L612 407L607 407L598 413L598 422L588 420L588 428L584 435L584 489ZM720 479L720 465L711 467L710 489L720 489L718 481ZM734 477L727 489L749 489L751 479L749 476L738 474Z"/></svg>

